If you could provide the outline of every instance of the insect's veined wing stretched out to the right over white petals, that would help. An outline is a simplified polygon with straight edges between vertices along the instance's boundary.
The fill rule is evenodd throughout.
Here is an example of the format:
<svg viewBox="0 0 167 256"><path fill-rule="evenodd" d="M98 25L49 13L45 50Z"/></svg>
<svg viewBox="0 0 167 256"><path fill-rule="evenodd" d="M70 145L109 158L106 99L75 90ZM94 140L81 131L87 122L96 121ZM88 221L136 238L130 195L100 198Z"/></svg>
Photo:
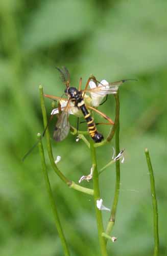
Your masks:
<svg viewBox="0 0 167 256"><path fill-rule="evenodd" d="M137 80L136 79L124 79L124 80L120 80L120 81L110 82L108 84L99 83L98 87L88 89L83 92L93 93L93 94L97 94L97 95L101 95L101 96L106 95L106 94L115 94L117 92L118 88L121 86L121 84L123 84L124 82L127 82L127 81L137 81Z"/></svg>

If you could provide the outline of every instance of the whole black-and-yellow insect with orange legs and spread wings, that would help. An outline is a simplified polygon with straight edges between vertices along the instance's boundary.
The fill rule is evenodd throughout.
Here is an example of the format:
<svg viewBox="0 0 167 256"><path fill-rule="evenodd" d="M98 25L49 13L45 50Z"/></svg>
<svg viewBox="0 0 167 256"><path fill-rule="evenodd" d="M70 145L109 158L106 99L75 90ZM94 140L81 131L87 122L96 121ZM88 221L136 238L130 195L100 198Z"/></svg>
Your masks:
<svg viewBox="0 0 167 256"><path fill-rule="evenodd" d="M82 84L82 78L80 78L79 81L79 89L75 87L70 86L70 76L68 70L63 67L62 69L57 68L61 74L61 79L63 83L65 84L65 95L67 98L61 98L57 96L52 96L48 94L44 94L45 97L54 99L54 100L64 100L66 101L66 106L62 109L61 115L58 118L58 121L55 126L54 131L54 139L56 141L62 141L66 138L66 136L69 133L70 130L70 124L69 124L69 109L71 108L71 105L75 106L78 110L80 110L85 118L85 121L87 123L88 127L88 133L90 137L94 140L94 142L101 142L104 137L101 133L97 131L96 124L94 123L93 117L91 117L89 110L96 111L98 114L102 115L105 119L108 120L107 123L103 124L114 124L113 121L106 116L104 113L100 112L99 110L93 108L90 105L85 104L85 93L93 93L93 95L108 95L108 94L114 94L117 92L118 86L120 86L122 83L124 83L127 80L133 80L133 79L124 79L116 82L110 82L108 85L104 85L97 81L96 77L90 76L87 80L86 86L84 90L81 90L81 84ZM88 85L90 80L93 80L96 83L96 88L88 89ZM100 123L99 123L100 124ZM101 123L102 124L102 123Z"/></svg>

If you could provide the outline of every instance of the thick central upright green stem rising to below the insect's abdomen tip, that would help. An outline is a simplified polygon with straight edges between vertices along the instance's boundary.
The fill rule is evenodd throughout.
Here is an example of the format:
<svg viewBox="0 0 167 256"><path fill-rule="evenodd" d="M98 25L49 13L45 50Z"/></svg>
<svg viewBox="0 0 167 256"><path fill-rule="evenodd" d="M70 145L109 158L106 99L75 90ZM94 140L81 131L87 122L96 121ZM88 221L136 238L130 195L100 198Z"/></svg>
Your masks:
<svg viewBox="0 0 167 256"><path fill-rule="evenodd" d="M93 171L94 206L96 210L99 243L100 243L102 256L107 256L108 254L106 249L106 240L104 237L102 237L102 233L104 232L102 212L97 207L97 200L100 200L100 188L99 188L99 177L98 177L98 169L97 169L96 148L94 148L94 142L91 138L90 138L90 152L91 152L92 166L94 166L94 171Z"/></svg>

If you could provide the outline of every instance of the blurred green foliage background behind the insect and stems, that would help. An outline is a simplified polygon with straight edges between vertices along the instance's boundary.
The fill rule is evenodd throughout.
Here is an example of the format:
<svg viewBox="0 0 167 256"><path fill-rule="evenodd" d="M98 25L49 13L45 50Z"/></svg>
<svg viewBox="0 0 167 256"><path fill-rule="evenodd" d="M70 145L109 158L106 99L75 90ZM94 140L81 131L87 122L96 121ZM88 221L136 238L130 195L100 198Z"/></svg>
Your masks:
<svg viewBox="0 0 167 256"><path fill-rule="evenodd" d="M164 0L1 0L0 92L1 178L0 236L2 256L63 255L41 173L38 148L22 156L42 132L38 86L61 96L64 85L55 67L66 66L71 84L83 86L92 73L107 81L137 78L120 89L121 193L109 255L153 255L153 212L144 155L150 150L159 209L160 255L167 255L166 231L166 42ZM51 101L45 100L48 116ZM114 119L114 98L101 106ZM96 120L101 118L96 116ZM70 117L76 124L76 118ZM50 126L52 133L54 122ZM82 129L86 129L82 124ZM108 127L99 127L107 135ZM90 171L86 145L76 137L53 144L62 172L78 182ZM45 139L43 140L45 145ZM99 168L112 156L112 145L98 148ZM69 189L46 163L65 237L73 256L100 255L93 199ZM112 205L115 173L101 176L101 194ZM92 187L92 183L82 185ZM106 227L109 214L103 212Z"/></svg>

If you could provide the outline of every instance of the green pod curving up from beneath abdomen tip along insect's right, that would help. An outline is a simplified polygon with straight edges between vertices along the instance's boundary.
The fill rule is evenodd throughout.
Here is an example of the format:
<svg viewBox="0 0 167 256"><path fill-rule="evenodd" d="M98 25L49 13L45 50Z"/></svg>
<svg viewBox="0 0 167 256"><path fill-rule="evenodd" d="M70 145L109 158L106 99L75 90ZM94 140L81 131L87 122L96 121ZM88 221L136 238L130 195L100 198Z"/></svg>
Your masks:
<svg viewBox="0 0 167 256"><path fill-rule="evenodd" d="M98 147L98 146L103 146L106 143L110 142L115 134L116 131L116 127L119 123L119 119L120 119L120 98L119 98L119 92L117 91L116 94L114 94L114 98L115 98L115 120L114 120L114 125L112 126L112 128L110 129L110 132L106 138L106 140L103 140L102 142L99 143L95 143L94 147Z"/></svg>

